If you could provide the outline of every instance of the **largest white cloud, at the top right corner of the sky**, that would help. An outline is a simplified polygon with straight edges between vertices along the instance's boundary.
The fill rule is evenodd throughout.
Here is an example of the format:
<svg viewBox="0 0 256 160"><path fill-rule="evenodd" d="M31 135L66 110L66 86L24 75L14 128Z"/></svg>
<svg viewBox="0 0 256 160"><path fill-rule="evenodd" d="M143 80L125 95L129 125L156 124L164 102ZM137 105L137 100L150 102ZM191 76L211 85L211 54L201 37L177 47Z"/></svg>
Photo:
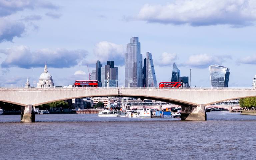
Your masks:
<svg viewBox="0 0 256 160"><path fill-rule="evenodd" d="M255 0L175 0L166 5L145 4L137 18L163 24L206 26L250 25L256 21Z"/></svg>

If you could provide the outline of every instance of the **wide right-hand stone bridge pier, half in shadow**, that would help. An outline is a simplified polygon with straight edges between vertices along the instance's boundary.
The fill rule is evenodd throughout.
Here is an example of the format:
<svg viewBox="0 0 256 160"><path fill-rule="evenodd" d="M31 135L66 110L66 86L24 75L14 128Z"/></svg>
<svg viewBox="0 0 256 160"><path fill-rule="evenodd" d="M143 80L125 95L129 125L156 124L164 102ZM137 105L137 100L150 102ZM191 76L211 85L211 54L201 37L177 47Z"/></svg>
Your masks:
<svg viewBox="0 0 256 160"><path fill-rule="evenodd" d="M198 106L181 106L181 120L202 120L206 121L206 110L203 104Z"/></svg>

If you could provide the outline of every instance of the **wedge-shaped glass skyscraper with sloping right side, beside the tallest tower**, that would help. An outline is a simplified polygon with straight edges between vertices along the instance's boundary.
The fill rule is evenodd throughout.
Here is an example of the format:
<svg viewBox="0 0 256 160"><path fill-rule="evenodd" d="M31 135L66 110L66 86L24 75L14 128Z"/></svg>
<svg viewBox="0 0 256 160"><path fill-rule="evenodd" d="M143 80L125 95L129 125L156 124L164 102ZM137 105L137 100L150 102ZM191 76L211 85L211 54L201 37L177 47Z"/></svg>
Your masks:
<svg viewBox="0 0 256 160"><path fill-rule="evenodd" d="M149 52L147 52L146 58L146 87L157 87L153 58Z"/></svg>

